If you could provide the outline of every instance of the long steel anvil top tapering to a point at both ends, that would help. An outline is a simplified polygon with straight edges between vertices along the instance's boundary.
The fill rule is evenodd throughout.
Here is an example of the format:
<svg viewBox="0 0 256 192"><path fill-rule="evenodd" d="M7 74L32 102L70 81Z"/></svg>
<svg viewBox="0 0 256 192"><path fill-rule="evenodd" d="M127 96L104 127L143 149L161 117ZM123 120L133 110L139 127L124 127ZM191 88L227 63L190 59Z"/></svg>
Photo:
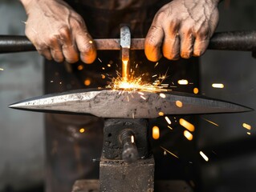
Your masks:
<svg viewBox="0 0 256 192"><path fill-rule="evenodd" d="M157 118L168 114L237 113L252 109L194 94L121 90L75 90L10 105L19 110L92 114L100 118Z"/></svg>

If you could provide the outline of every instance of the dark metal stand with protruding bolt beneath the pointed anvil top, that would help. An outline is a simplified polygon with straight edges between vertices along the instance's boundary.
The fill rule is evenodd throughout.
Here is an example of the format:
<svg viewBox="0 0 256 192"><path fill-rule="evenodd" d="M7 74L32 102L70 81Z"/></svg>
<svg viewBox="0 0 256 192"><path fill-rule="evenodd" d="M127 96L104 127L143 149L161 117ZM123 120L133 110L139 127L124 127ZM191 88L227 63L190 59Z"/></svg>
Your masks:
<svg viewBox="0 0 256 192"><path fill-rule="evenodd" d="M108 118L104 123L100 182L77 181L72 192L151 192L154 191L154 166L148 145L148 121Z"/></svg>

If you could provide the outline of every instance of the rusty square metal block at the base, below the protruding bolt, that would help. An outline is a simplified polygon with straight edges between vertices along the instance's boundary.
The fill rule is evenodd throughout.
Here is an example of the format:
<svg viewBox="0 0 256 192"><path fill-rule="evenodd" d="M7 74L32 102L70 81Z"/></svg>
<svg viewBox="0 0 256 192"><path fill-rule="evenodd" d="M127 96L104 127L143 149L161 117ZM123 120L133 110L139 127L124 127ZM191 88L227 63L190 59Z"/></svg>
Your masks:
<svg viewBox="0 0 256 192"><path fill-rule="evenodd" d="M122 160L101 158L101 192L154 191L154 159L138 160L131 164Z"/></svg>

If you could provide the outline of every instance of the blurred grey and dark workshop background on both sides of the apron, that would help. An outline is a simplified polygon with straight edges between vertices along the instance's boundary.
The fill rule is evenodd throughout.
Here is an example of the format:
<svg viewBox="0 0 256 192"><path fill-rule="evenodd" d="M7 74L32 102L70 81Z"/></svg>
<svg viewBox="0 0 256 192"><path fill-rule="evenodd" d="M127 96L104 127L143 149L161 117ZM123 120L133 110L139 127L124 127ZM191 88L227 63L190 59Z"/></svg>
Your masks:
<svg viewBox="0 0 256 192"><path fill-rule="evenodd" d="M256 30L256 1L221 3L217 31ZM24 34L26 14L16 0L0 2L0 34ZM250 52L208 50L201 57L200 94L256 109L256 59ZM221 83L223 88L214 88ZM43 114L8 105L43 94L43 58L36 52L0 54L0 191L43 191ZM256 189L256 112L201 115L198 147L202 189ZM250 129L248 129L250 128ZM199 154L199 152L198 152ZM172 163L172 162L170 162Z"/></svg>

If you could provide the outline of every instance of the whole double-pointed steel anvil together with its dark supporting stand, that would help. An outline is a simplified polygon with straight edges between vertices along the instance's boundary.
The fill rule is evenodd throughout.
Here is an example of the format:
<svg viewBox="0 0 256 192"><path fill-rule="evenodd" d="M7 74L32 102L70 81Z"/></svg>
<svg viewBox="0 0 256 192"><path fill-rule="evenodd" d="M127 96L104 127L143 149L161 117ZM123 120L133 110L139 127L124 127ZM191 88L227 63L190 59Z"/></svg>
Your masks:
<svg viewBox="0 0 256 192"><path fill-rule="evenodd" d="M251 110L195 94L108 89L48 94L14 103L10 107L106 118L100 159L101 192L153 191L154 160L148 146L147 118L157 118L161 114L238 113ZM73 192L89 191L86 188L89 187L88 183L91 182L76 182ZM99 191L99 188L93 191Z"/></svg>

